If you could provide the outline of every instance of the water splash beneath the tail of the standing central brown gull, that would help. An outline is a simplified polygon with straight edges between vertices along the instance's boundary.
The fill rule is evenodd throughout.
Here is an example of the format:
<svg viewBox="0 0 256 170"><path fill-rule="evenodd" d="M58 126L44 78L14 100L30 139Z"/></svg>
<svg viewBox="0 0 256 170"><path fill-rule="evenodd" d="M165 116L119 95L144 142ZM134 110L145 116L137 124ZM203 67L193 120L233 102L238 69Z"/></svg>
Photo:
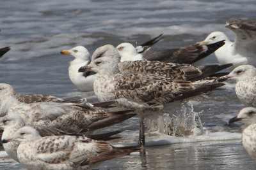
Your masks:
<svg viewBox="0 0 256 170"><path fill-rule="evenodd" d="M172 113L164 113L157 117L147 118L148 131L157 131L170 136L191 136L207 134L207 129L203 127L198 114L194 111L193 104L189 101Z"/></svg>

